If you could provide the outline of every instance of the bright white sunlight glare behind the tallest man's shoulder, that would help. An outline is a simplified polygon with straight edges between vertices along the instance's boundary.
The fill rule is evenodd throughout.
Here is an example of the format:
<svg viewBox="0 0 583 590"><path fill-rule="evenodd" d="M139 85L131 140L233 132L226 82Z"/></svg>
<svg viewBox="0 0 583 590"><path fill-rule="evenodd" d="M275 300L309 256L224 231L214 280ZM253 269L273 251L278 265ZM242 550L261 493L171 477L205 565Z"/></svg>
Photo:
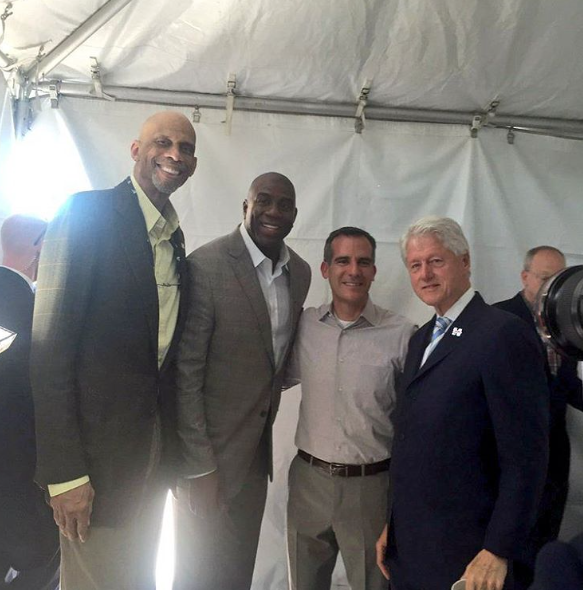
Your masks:
<svg viewBox="0 0 583 590"><path fill-rule="evenodd" d="M9 214L50 220L67 197L91 188L83 162L60 119L39 119L7 157L0 177L0 198Z"/></svg>

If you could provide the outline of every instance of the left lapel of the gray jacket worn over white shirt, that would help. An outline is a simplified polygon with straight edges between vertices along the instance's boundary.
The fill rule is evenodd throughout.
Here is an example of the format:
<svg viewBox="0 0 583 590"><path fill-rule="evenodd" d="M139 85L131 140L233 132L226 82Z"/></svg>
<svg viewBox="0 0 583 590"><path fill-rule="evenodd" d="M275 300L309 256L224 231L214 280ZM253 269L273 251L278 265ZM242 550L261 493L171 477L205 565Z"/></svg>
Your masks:
<svg viewBox="0 0 583 590"><path fill-rule="evenodd" d="M239 228L237 228L231 235L229 240L228 251L231 256L230 262L233 272L241 285L243 293L247 296L249 303L253 309L259 332L263 339L263 344L271 365L275 368L275 356L273 353L273 340L271 336L271 319L269 318L269 311L265 297L257 278L257 271L253 266L251 256L245 247L245 242L241 237Z"/></svg>

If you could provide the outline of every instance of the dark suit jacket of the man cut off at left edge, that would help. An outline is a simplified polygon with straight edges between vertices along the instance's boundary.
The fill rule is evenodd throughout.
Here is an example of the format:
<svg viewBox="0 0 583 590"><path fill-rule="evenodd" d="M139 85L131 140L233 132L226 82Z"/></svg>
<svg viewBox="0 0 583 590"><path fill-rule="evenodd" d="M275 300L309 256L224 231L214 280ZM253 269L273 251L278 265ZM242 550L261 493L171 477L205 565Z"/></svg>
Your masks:
<svg viewBox="0 0 583 590"><path fill-rule="evenodd" d="M33 482L36 452L28 366L33 305L26 280L0 268L0 326L17 333L12 346L0 354L0 562L17 570L44 565L59 548L52 511Z"/></svg>

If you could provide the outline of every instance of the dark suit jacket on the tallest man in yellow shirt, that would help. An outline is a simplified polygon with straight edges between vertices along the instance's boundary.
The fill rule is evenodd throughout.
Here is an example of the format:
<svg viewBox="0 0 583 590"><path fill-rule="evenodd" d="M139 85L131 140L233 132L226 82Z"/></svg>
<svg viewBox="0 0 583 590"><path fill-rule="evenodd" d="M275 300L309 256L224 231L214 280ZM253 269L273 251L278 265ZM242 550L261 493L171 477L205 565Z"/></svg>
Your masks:
<svg viewBox="0 0 583 590"><path fill-rule="evenodd" d="M89 475L100 525L139 507L157 414L165 442L173 436L172 357L184 315L159 370L154 261L129 182L74 195L51 222L33 323L36 480ZM183 260L180 230L173 244Z"/></svg>

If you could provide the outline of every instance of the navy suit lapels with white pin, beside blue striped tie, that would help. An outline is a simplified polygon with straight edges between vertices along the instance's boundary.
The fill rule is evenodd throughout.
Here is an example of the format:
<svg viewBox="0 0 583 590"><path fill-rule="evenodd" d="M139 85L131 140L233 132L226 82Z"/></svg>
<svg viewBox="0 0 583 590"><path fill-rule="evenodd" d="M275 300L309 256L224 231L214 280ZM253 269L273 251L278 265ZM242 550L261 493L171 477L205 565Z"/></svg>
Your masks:
<svg viewBox="0 0 583 590"><path fill-rule="evenodd" d="M450 353L456 350L459 346L464 346L465 339L469 337L472 333L472 330L475 329L475 323L479 319L481 310L484 308L486 303L482 299L479 293L476 293L474 297L470 300L466 308L462 311L459 317L452 323L449 330L444 334L443 338L439 341L439 344L435 347L435 349L431 352L431 354L427 357L425 364L419 368L411 377L410 380L406 381L406 386L408 387L413 381L416 381L425 373L430 371L433 367L437 364L441 363ZM423 358L423 353L425 352L425 348L429 344L429 334L433 331L433 326L435 324L435 317L431 321L429 321L425 326L422 328L426 330L425 338L423 342L425 345L421 345L419 349L416 351L418 358L417 364L414 366L413 370L419 367L421 363L421 359ZM419 356L420 355L420 356Z"/></svg>

